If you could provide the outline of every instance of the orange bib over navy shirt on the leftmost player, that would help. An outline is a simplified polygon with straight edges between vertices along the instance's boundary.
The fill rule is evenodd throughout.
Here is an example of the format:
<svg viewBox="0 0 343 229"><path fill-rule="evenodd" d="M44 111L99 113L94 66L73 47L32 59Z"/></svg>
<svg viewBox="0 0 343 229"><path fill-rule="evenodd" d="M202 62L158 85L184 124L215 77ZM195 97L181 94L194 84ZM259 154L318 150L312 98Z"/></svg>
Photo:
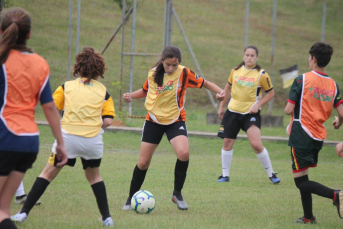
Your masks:
<svg viewBox="0 0 343 229"><path fill-rule="evenodd" d="M38 101L53 101L48 63L35 53L11 50L0 69L0 151L38 153Z"/></svg>

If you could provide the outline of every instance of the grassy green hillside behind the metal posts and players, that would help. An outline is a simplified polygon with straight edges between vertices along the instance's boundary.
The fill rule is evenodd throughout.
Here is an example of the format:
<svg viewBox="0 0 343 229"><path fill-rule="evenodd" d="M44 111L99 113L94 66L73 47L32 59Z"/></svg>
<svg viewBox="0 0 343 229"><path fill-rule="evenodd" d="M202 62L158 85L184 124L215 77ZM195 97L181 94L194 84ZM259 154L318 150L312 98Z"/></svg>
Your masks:
<svg viewBox="0 0 343 229"><path fill-rule="evenodd" d="M29 46L44 56L51 67L53 89L67 80L69 1L5 0L5 8L25 8L33 18ZM135 52L160 53L163 48L164 2L139 0L136 21ZM272 75L276 91L275 110L286 103L288 89L282 89L279 69L299 64L308 71L308 50L321 39L322 5L319 0L278 1L274 74L271 72L273 1L251 0L249 44L260 50L259 64ZM326 41L334 47L327 73L343 88L343 6L339 0L327 1ZM174 7L192 45L204 77L224 87L230 70L242 60L244 48L245 0L174 0ZM93 46L99 52L121 22L121 9L114 0L83 0L81 3L80 48ZM132 17L125 25L124 52L131 49ZM76 54L77 0L73 1L72 63ZM173 21L172 44L183 51L183 65L195 72L186 43ZM103 82L119 106L121 33L115 37L104 56L107 74ZM158 57L134 58L133 89L143 84L148 69ZM122 92L129 90L130 57L124 57ZM188 107L213 108L205 90L188 90ZM200 105L200 106L199 106ZM124 112L127 105L122 104ZM144 115L141 101L134 102L135 115Z"/></svg>

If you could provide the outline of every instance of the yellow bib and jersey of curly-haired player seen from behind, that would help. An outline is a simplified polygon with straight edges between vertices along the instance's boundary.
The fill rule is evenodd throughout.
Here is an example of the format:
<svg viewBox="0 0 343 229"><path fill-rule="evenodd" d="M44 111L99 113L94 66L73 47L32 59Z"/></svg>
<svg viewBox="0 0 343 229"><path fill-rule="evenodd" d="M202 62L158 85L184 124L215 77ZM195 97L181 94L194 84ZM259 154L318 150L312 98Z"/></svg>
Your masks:
<svg viewBox="0 0 343 229"><path fill-rule="evenodd" d="M95 137L103 118L115 118L113 100L106 87L97 80L84 84L77 78L59 86L53 94L59 110L63 110L62 129L69 134Z"/></svg>

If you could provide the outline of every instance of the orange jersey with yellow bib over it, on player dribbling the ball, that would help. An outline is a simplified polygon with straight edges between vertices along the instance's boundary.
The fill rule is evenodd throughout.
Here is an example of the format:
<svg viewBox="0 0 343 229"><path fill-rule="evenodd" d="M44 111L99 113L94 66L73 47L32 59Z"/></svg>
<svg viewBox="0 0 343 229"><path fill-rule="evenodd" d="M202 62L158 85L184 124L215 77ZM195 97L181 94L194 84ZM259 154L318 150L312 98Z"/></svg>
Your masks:
<svg viewBox="0 0 343 229"><path fill-rule="evenodd" d="M163 85L158 86L153 79L156 69L149 71L143 90L147 92L145 108L148 113L146 120L162 125L169 125L177 121L186 121L187 88L201 88L204 79L192 70L179 65L173 74L165 74Z"/></svg>

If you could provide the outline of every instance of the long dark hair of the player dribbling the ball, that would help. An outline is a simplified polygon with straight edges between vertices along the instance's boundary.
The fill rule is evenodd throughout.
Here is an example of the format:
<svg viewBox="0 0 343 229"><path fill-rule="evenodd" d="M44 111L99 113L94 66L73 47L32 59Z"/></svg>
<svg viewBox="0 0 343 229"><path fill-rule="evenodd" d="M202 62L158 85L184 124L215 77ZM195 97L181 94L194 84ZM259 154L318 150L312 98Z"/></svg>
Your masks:
<svg viewBox="0 0 343 229"><path fill-rule="evenodd" d="M164 73L165 73L164 67L163 67L163 61L165 59L174 58L174 57L176 57L179 60L179 63L181 63L182 56L181 56L180 49L178 47L172 46L172 45L167 46L164 48L164 50L162 52L161 59L154 65L154 67L156 67L156 71L154 74L154 82L158 86L162 86L162 84L163 84L163 77L164 77Z"/></svg>

